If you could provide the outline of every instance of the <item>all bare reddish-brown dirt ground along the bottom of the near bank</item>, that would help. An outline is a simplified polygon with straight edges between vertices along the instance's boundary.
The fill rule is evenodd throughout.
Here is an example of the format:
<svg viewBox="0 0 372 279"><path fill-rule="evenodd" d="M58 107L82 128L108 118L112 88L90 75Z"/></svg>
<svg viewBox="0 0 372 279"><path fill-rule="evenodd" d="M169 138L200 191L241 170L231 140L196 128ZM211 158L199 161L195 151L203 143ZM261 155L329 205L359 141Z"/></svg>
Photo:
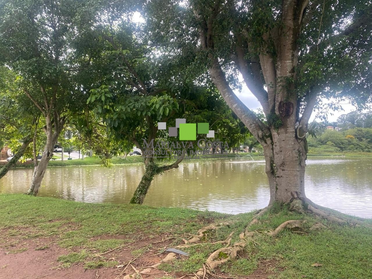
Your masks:
<svg viewBox="0 0 372 279"><path fill-rule="evenodd" d="M120 236L115 236L118 238ZM100 239L110 239L113 236L103 235ZM96 240L92 238L92 240ZM57 261L61 255L71 253L71 250L61 248L56 243L56 238L39 238L32 240L17 241L8 238L3 243L3 248L0 248L0 278L1 279L122 279L125 275L135 272L134 269L140 269L144 266L151 266L160 262L167 253L161 254L165 247L169 247L172 239L170 235L159 235L155 238L142 236L142 240L137 241L127 246L122 246L109 253L102 254L105 260L115 260L119 262L115 267L100 267L97 269L84 269L83 263L71 265L68 268L62 268L61 263ZM152 244L150 250L147 250L141 256L135 257L132 251L148 247ZM35 250L40 247L47 246L43 250ZM25 250L27 249L27 250ZM25 251L22 251L25 250ZM74 249L79 252L78 249ZM177 256L178 259L183 257ZM129 264L128 264L129 263ZM214 278L247 278L247 279L267 279L273 275L269 270L275 263L262 262L257 270L250 276L235 276L231 277L228 274L217 272ZM133 269L134 268L134 269ZM167 273L163 270L152 269L150 273L141 274L143 279L155 278L180 278L185 273L172 272Z"/></svg>

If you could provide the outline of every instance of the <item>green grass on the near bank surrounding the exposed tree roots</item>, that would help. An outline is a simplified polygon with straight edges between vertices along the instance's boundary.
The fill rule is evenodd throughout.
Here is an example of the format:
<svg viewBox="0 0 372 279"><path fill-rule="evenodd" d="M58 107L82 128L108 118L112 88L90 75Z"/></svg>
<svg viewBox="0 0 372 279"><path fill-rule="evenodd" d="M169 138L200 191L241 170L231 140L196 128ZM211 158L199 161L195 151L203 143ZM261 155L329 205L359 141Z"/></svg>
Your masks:
<svg viewBox="0 0 372 279"><path fill-rule="evenodd" d="M114 266L123 269L122 266L131 260L135 268L146 266L160 257L164 247L181 244L182 238L189 238L206 224L227 219L239 221L208 232L206 238L208 242L224 240L233 231L233 243L253 215L80 203L15 194L0 195L0 212L0 245L6 255L32 255L56 245L62 252L48 260L57 261L57 270L69 267L71 272L76 266L87 270L99 267L115 270ZM273 230L288 219L303 218L303 215L289 214L286 209L274 208L270 217L263 216L262 224L253 228L258 230L254 242L246 247L240 258L222 266L218 275L232 278L252 273L257 275L254 278L269 278L267 275L286 279L372 278L372 230L369 228L343 227L323 221L327 228L311 231L309 228L319 220L308 215L301 232L286 230L276 238L259 233ZM163 278L195 272L209 254L220 247L221 244L202 244L183 249L190 257L163 263L157 272L164 274ZM7 267L3 270L6 272Z"/></svg>

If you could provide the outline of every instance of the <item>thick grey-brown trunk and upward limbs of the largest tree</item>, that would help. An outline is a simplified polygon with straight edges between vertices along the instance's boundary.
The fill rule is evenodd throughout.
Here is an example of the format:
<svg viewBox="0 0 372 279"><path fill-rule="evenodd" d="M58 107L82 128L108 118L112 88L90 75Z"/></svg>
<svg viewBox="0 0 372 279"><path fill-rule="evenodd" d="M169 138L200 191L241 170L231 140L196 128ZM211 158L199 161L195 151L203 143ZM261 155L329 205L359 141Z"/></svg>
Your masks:
<svg viewBox="0 0 372 279"><path fill-rule="evenodd" d="M244 28L241 28L239 22L235 22L236 26L233 28L237 51L237 55L232 55L235 57L233 60L243 75L247 87L257 87L257 90L252 90L252 92L263 107L267 124L260 121L237 98L222 71L219 60L212 53L214 51L213 22L220 12L219 4L216 2L216 6L211 7L209 17L205 17L200 6L194 6L194 15L201 23L199 26L201 47L208 51L211 78L227 105L264 148L266 174L270 185L270 204L275 201L291 203L299 196L305 198L304 174L307 144L305 138L299 138L296 135L296 122L299 122L296 114L298 96L293 80L296 80L294 69L298 58L299 25L306 5L307 1L304 0L298 2L283 0L282 25L277 30L278 37L272 38L277 42L275 44L276 64L272 53L267 51L270 46L271 33L264 34L262 39L266 42L266 46L262 48L259 60L254 58L254 61L250 61L251 67L248 67L245 49L250 51L249 40L243 42ZM232 16L234 16L234 1L230 3L230 6ZM295 9L295 6L298 9ZM247 44L246 47L244 47L245 44ZM261 88L259 68L255 63L260 64L267 85L267 93ZM314 102L308 102L307 105L309 106L307 110L312 111ZM305 128L306 125L307 123L302 124ZM234 148L232 151L234 152Z"/></svg>

